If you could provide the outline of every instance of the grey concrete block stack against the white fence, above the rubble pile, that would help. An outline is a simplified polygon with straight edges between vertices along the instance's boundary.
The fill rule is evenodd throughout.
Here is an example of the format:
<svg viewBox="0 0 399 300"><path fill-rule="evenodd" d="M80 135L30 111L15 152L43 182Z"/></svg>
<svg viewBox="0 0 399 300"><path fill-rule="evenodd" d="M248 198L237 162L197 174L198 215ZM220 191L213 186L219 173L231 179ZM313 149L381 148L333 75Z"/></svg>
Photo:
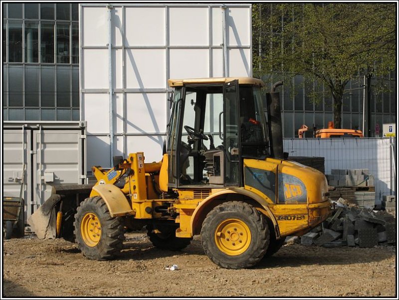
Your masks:
<svg viewBox="0 0 399 300"><path fill-rule="evenodd" d="M369 169L331 169L326 178L333 187L374 187L374 176Z"/></svg>

